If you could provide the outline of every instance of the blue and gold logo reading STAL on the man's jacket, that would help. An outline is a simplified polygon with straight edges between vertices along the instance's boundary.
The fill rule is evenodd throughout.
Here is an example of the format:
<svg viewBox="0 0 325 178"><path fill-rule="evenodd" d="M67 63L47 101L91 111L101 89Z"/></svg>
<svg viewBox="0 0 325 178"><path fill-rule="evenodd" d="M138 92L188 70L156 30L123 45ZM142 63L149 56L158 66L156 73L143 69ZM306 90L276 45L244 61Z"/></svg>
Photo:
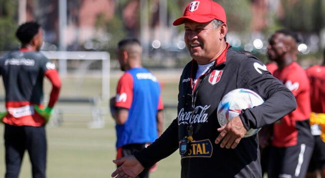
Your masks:
<svg viewBox="0 0 325 178"><path fill-rule="evenodd" d="M211 158L213 147L209 139L192 141L189 145L188 154L181 158L201 157Z"/></svg>

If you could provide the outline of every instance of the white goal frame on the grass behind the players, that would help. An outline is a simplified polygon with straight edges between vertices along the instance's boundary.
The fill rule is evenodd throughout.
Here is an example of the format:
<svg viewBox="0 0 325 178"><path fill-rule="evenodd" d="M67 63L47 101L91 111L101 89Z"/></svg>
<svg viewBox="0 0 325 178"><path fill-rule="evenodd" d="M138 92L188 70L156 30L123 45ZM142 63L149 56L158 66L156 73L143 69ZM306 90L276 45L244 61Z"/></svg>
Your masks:
<svg viewBox="0 0 325 178"><path fill-rule="evenodd" d="M67 119L70 122L88 122L87 125L89 128L103 128L105 126L104 115L107 113L108 107L101 107L101 105L108 102L110 97L110 54L105 51L41 52L45 57L59 64L61 61L65 63L68 61L68 64L70 64L68 66L58 66L59 73L60 71L64 71L64 74L60 73L60 76L62 80L65 79L65 85L67 85L67 87L64 88L63 86L62 95L59 98L60 104L56 107L57 116L56 119L52 119L52 125L60 126L61 123L63 123L63 115L65 114L83 114L84 116L91 115L90 117L92 120L89 122L89 117L84 119L78 117L77 120L73 119L75 117L68 117ZM101 63L98 61L101 61ZM64 69L62 66L64 66ZM69 68L69 70L67 70L67 68ZM94 70L95 76L101 75L101 80L91 76L92 70ZM100 70L101 72L99 73ZM82 88L78 86L78 84L76 85L75 77L81 79L80 81L83 81L82 83L86 85L83 85ZM96 98L100 99L98 100ZM64 119L64 123L66 123L66 119Z"/></svg>

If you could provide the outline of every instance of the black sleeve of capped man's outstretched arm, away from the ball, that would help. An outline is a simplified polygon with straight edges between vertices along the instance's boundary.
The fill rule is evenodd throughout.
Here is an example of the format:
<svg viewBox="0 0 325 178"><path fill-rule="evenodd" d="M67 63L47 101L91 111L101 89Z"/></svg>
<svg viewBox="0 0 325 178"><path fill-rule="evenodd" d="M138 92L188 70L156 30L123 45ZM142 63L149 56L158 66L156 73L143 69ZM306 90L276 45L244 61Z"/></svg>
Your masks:
<svg viewBox="0 0 325 178"><path fill-rule="evenodd" d="M174 119L169 127L153 144L136 152L134 156L145 168L151 168L158 161L168 157L178 149L178 123Z"/></svg>

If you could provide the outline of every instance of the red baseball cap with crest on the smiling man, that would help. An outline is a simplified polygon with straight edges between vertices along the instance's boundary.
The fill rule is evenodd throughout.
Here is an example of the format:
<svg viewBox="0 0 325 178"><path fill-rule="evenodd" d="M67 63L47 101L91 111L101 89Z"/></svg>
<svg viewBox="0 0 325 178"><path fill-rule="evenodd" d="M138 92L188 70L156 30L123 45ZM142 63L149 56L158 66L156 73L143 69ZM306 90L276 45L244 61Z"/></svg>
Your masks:
<svg viewBox="0 0 325 178"><path fill-rule="evenodd" d="M220 4L212 0L193 0L186 6L183 16L177 18L172 24L175 26L183 24L185 19L199 23L218 19L227 23L225 10Z"/></svg>

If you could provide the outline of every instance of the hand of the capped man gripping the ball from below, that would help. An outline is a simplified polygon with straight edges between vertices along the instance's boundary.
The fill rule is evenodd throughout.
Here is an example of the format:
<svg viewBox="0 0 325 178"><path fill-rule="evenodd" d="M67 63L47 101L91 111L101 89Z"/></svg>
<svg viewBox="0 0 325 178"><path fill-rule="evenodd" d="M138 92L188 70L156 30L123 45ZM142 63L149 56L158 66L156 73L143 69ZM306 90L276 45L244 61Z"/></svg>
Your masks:
<svg viewBox="0 0 325 178"><path fill-rule="evenodd" d="M221 142L221 148L236 148L241 138L247 133L239 116L232 118L227 124L217 129L220 134L215 139L215 144Z"/></svg>

